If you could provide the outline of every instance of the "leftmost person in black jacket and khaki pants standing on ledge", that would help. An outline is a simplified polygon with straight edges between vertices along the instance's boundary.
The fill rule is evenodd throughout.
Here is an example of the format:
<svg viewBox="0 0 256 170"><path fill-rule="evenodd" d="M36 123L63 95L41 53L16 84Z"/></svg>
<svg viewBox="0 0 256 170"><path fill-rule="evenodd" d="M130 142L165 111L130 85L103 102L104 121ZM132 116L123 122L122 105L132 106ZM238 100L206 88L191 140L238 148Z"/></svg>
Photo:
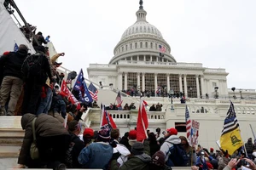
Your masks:
<svg viewBox="0 0 256 170"><path fill-rule="evenodd" d="M20 97L23 81L21 66L27 57L28 48L21 44L17 52L10 52L0 58L0 71L3 71L3 82L1 84L1 114L14 116L15 107ZM6 113L4 105L8 102L8 111Z"/></svg>

